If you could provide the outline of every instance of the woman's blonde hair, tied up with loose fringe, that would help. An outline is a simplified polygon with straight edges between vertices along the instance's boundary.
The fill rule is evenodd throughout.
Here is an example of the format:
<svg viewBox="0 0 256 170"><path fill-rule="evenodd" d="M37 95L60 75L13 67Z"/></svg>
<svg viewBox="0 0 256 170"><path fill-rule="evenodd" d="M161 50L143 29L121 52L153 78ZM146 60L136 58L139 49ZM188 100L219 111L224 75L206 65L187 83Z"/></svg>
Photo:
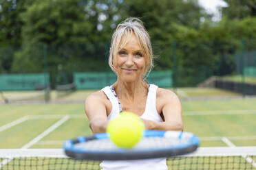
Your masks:
<svg viewBox="0 0 256 170"><path fill-rule="evenodd" d="M111 38L111 46L109 49L109 66L111 70L116 73L113 65L114 55L117 55L118 51L125 46L129 40L129 36L132 34L136 36L143 56L145 56L146 66L142 74L144 78L153 68L153 51L149 34L140 19L128 18L116 27L116 31Z"/></svg>

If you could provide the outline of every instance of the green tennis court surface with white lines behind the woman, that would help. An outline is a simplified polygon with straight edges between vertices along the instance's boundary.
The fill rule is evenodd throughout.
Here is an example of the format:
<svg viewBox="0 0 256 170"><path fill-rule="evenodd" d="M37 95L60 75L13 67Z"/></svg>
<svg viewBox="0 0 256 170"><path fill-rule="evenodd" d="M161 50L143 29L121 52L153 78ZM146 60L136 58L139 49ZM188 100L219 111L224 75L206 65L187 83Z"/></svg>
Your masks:
<svg viewBox="0 0 256 170"><path fill-rule="evenodd" d="M209 93L206 93L206 90L202 89L206 95L208 94L208 97L211 96L213 98L189 99L188 96L200 96L202 91L197 88L195 88L195 90L192 90L192 88L179 90L182 91L182 95L184 95L184 93L187 95L186 99L182 99L184 131L197 134L201 141L200 147L255 147L255 98L242 98L228 92L227 93L230 95L226 95L226 93L223 92L224 95L219 95L220 98L216 99L216 93L213 93L213 89L209 89ZM196 92L197 90L198 92ZM87 94L92 93L92 91L94 90L71 93L63 98L63 101L66 100L63 103L0 105L1 149L58 149L59 151L63 145L63 141L66 139L92 134L89 130L89 122L85 116L82 99L86 97ZM221 96L231 98L226 99ZM71 102L72 99L75 98L76 100L74 101L76 102ZM41 151L35 151L33 153L40 154L40 152ZM251 158L253 158L254 162L256 161L255 157ZM210 163L212 161L210 158L208 158L209 160L205 160L206 157L201 159L202 160L198 157L195 161L209 162L209 166L212 164ZM245 167L252 167L251 164L246 163L244 158L235 157L234 159L235 160L232 160L233 162L243 162ZM39 160L37 159L36 162ZM7 165L11 164L13 161L14 160L8 162ZM31 164L33 161L35 160L19 160L18 164ZM50 162L50 160L47 161ZM56 164L59 163L56 162L56 159L53 161L54 165L52 166L56 167ZM63 159L60 161L63 162ZM171 162L180 166L180 160L178 161L179 163L177 161L178 160L173 160ZM184 169L186 169L185 165L187 164L195 164L194 160L191 158L182 158L181 161L183 161L181 164ZM228 157L226 160L225 158L215 158L215 164L217 164L217 166L219 164L218 162L224 161L230 162ZM69 166L72 165L70 162L67 164ZM72 165L67 169L76 169L75 167L78 166L78 162L74 164L74 166ZM80 162L79 164L82 163ZM90 163L89 165L92 165L92 167L96 166L95 169L98 169L97 162ZM85 165L81 166L83 167ZM3 166L3 169L4 167L6 166ZM30 167L33 169L32 165L30 165ZM222 169L223 167L220 168ZM36 168L34 167L34 169Z"/></svg>

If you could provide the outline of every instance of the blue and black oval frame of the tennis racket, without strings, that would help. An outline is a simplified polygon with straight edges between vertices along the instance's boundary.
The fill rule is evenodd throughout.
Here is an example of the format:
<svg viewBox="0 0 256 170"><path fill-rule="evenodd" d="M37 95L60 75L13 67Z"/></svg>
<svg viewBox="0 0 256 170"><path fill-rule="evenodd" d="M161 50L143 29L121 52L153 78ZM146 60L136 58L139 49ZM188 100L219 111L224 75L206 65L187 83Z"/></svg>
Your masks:
<svg viewBox="0 0 256 170"><path fill-rule="evenodd" d="M189 132L175 132L175 131L162 131L162 130L145 130L143 138L160 137L168 138L168 134L178 133L177 138L186 136L189 140L185 143L181 142L178 145L162 148L148 148L148 149L114 149L114 150L91 150L91 149L79 149L76 145L81 143L87 143L94 140L109 139L109 134L94 134L92 136L78 136L78 138L70 139L63 143L63 149L65 154L71 158L78 160L136 160L136 159L148 159L148 158L162 158L170 156L180 156L183 154L189 154L195 151L200 145L198 136ZM110 139L109 139L110 140ZM104 143L103 143L104 145Z"/></svg>

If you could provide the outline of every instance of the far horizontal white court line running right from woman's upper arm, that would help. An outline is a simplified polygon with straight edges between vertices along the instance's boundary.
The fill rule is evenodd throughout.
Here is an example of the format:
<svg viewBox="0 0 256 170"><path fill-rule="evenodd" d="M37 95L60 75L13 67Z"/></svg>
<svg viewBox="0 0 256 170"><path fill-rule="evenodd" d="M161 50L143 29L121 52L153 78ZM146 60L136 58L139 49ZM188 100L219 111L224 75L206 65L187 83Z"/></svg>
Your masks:
<svg viewBox="0 0 256 170"><path fill-rule="evenodd" d="M194 115L217 115L217 114L256 114L256 110L201 110L201 111L184 111L182 116Z"/></svg>

